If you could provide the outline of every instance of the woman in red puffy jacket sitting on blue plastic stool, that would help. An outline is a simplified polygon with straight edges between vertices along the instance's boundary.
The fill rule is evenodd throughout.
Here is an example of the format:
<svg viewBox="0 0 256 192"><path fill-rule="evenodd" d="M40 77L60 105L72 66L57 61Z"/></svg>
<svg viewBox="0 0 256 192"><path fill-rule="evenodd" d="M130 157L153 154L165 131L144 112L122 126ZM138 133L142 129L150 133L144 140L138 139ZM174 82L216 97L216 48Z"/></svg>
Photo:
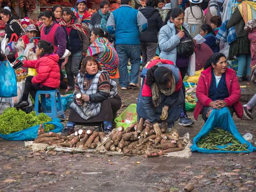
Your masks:
<svg viewBox="0 0 256 192"><path fill-rule="evenodd" d="M37 76L27 76L22 99L15 105L16 108L29 106L29 93L35 99L37 90L54 90L60 86L59 56L53 53L53 49L51 43L40 40L35 49L38 59L23 61L23 67L34 68Z"/></svg>

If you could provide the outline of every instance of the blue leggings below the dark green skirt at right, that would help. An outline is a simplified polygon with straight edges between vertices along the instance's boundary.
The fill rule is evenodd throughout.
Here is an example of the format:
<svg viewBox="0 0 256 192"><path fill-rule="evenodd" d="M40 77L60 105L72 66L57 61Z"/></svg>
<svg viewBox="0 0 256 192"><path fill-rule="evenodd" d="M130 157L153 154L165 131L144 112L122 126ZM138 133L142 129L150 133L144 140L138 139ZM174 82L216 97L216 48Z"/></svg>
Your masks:
<svg viewBox="0 0 256 192"><path fill-rule="evenodd" d="M250 54L238 54L238 69L237 69L237 76L243 77L244 76L244 68L246 68L246 75L251 75L251 55Z"/></svg>

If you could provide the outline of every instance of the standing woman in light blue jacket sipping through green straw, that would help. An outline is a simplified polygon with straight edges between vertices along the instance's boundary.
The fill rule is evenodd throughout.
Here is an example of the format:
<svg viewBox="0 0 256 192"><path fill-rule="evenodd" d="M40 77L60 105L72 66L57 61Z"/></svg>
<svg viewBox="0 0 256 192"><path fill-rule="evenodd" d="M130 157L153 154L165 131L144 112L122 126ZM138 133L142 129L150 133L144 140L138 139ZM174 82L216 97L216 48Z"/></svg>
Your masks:
<svg viewBox="0 0 256 192"><path fill-rule="evenodd" d="M164 26L159 31L158 44L161 49L159 57L161 59L168 59L173 61L176 66L180 69L181 77L184 79L188 66L190 63L190 57L185 57L177 54L177 46L180 44L181 39L187 38L184 30L189 34L188 24L184 22L185 12L181 8L173 8L166 16ZM182 86L182 91L185 97L185 87ZM179 125L189 126L194 122L188 118L185 102L184 108L180 115Z"/></svg>

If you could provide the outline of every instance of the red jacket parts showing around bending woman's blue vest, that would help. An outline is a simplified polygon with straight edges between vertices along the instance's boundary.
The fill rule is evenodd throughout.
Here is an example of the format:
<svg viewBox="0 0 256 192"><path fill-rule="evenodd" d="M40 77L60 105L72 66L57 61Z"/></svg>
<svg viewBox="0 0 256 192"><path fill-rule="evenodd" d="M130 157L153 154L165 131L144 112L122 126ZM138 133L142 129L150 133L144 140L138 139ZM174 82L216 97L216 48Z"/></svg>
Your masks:
<svg viewBox="0 0 256 192"><path fill-rule="evenodd" d="M167 59L156 59L156 60L151 61L147 65L146 68L150 69L151 67L156 65L158 62L162 62L162 64L174 65L174 63L172 61L170 61L170 60L167 60ZM178 71L179 81L176 84L175 92L180 91L180 89L182 88L181 74L180 74L179 70L177 70L177 71ZM173 73L174 73L174 71L173 71ZM152 90L151 90L151 87L146 84L146 79L144 80L144 85L143 85L143 88L142 88L142 97L152 97Z"/></svg>

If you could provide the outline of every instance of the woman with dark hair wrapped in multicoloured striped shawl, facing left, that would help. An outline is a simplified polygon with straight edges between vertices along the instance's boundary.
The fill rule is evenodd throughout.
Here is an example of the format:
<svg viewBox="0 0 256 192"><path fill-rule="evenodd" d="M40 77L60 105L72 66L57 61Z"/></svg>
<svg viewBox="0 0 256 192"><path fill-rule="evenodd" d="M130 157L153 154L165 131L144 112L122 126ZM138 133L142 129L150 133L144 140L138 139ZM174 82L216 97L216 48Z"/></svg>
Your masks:
<svg viewBox="0 0 256 192"><path fill-rule="evenodd" d="M119 78L119 58L113 45L104 36L105 32L102 29L93 29L87 56L94 56L103 70L108 71L110 78L117 79Z"/></svg>

